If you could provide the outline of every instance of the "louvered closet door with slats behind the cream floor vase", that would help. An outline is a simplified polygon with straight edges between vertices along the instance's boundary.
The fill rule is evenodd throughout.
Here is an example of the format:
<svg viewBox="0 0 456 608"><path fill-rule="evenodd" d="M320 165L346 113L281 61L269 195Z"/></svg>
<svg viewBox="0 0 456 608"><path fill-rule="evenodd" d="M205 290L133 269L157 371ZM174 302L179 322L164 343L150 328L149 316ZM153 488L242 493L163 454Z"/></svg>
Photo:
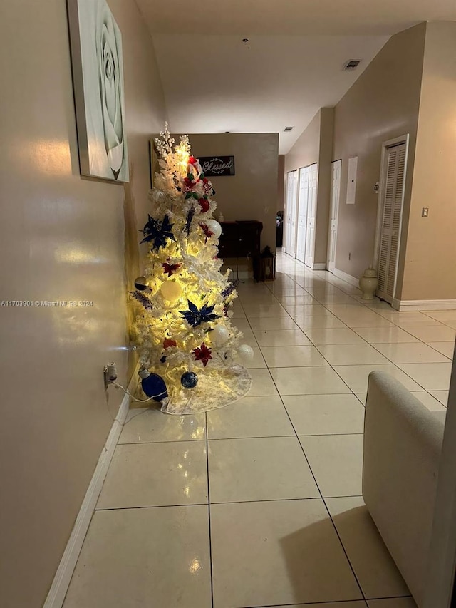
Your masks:
<svg viewBox="0 0 456 608"><path fill-rule="evenodd" d="M378 255L377 295L393 302L398 266L400 227L402 222L405 179L405 143L388 148L386 163L383 219Z"/></svg>

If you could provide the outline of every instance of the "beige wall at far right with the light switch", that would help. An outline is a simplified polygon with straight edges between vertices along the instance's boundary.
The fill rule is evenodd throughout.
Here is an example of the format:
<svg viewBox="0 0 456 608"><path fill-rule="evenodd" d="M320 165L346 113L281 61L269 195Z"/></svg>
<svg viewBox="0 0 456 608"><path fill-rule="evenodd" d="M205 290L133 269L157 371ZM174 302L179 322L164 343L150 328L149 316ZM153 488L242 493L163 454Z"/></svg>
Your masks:
<svg viewBox="0 0 456 608"><path fill-rule="evenodd" d="M456 23L427 24L403 300L456 299L455 58Z"/></svg>

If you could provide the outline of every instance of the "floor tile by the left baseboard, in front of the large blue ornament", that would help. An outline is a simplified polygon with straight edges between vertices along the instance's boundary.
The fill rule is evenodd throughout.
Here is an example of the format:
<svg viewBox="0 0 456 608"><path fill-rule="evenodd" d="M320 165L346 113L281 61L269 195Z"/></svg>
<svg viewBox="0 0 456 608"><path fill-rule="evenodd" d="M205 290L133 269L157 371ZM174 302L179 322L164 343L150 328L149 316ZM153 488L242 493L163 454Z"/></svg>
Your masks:
<svg viewBox="0 0 456 608"><path fill-rule="evenodd" d="M195 416L163 416L160 406L130 410L118 443L155 443L206 438L204 413Z"/></svg>

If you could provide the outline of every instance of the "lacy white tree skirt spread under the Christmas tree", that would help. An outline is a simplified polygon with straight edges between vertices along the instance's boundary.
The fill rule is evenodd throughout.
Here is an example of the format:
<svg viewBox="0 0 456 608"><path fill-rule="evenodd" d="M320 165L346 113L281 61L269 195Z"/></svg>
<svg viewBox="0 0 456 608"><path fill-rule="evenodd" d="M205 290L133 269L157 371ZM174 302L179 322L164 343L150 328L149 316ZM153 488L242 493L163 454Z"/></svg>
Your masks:
<svg viewBox="0 0 456 608"><path fill-rule="evenodd" d="M224 408L246 396L251 386L252 377L241 365L220 366L211 373L199 373L195 388L170 394L162 412L182 415Z"/></svg>

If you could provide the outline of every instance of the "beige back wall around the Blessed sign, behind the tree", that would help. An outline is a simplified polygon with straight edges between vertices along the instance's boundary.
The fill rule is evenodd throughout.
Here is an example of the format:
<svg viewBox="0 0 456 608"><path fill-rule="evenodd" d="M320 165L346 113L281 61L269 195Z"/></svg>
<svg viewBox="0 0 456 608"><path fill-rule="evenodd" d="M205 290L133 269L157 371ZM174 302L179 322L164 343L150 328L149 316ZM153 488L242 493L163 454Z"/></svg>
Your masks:
<svg viewBox="0 0 456 608"><path fill-rule="evenodd" d="M195 156L234 155L236 175L210 177L217 201L216 217L222 212L227 222L263 222L261 247L276 249L278 133L190 134ZM268 207L268 213L264 212Z"/></svg>

